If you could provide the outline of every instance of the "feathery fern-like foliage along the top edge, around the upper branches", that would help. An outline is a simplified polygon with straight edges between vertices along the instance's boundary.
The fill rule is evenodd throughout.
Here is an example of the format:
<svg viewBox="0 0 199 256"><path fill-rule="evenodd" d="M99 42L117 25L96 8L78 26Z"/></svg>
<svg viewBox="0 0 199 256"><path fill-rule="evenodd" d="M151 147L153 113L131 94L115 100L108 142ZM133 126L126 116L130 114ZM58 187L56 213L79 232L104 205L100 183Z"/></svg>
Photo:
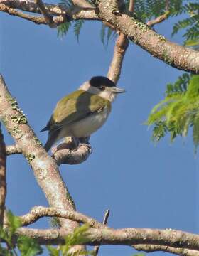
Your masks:
<svg viewBox="0 0 199 256"><path fill-rule="evenodd" d="M129 0L124 1L124 8L128 9ZM64 6L66 9L72 7L71 0L60 0L60 6ZM187 17L181 21L178 21L173 26L172 35L175 35L180 30L184 30L185 46L190 46L196 50L199 48L199 3L196 1L188 0L169 0L166 5L166 1L162 0L137 0L135 1L134 14L143 22L147 22L153 18L167 14L168 18L170 16L178 16L185 14ZM84 23L83 20L80 21L69 21L58 26L58 36L65 36L70 26L73 25L73 31L79 41L80 30ZM117 35L116 31L112 30L108 26L105 26L102 23L101 28L101 41L102 43L108 44L111 38L114 38ZM194 46L190 45L190 41L195 41Z"/></svg>

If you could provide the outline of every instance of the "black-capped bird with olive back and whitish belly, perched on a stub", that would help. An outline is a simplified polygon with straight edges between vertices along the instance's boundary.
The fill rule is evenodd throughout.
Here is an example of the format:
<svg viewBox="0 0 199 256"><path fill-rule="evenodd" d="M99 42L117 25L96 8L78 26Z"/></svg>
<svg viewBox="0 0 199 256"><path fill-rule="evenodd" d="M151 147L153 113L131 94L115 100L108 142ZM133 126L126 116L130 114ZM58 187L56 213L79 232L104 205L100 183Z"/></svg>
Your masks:
<svg viewBox="0 0 199 256"><path fill-rule="evenodd" d="M97 131L112 109L117 94L125 92L112 80L94 76L84 82L78 90L63 97L56 105L47 125L41 132L48 131L45 150L64 137L77 139L90 137Z"/></svg>

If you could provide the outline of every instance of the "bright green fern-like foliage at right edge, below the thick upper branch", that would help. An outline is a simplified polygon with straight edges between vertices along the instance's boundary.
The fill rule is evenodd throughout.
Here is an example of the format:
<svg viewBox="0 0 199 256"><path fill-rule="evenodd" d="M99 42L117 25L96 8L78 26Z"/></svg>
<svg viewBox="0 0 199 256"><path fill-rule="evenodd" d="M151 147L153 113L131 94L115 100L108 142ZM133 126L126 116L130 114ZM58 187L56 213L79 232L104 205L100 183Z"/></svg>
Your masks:
<svg viewBox="0 0 199 256"><path fill-rule="evenodd" d="M195 150L199 145L199 75L183 74L167 85L166 97L149 115L148 125L154 125L152 139L158 142L166 133L171 142L176 136L186 136L193 127Z"/></svg>

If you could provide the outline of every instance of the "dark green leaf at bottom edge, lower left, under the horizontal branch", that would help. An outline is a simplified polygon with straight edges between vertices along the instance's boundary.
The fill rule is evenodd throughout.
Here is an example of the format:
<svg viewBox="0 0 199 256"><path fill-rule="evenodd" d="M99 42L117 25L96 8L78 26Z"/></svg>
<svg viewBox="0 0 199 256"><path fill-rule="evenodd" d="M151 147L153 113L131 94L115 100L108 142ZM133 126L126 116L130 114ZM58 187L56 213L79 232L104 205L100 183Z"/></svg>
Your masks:
<svg viewBox="0 0 199 256"><path fill-rule="evenodd" d="M38 242L32 238L26 236L20 236L17 240L18 250L21 252L21 256L35 256L40 255L43 249Z"/></svg>

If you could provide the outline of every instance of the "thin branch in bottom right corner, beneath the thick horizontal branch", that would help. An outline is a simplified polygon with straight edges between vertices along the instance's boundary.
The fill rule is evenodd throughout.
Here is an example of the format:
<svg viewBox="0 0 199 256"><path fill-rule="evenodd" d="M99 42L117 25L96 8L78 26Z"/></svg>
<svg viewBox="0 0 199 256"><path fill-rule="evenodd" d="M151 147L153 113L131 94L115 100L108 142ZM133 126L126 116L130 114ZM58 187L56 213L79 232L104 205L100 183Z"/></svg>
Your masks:
<svg viewBox="0 0 199 256"><path fill-rule="evenodd" d="M165 245L132 245L136 250L144 252L170 252L175 255L181 256L199 256L199 252L196 250L189 250L185 248L174 248Z"/></svg>

